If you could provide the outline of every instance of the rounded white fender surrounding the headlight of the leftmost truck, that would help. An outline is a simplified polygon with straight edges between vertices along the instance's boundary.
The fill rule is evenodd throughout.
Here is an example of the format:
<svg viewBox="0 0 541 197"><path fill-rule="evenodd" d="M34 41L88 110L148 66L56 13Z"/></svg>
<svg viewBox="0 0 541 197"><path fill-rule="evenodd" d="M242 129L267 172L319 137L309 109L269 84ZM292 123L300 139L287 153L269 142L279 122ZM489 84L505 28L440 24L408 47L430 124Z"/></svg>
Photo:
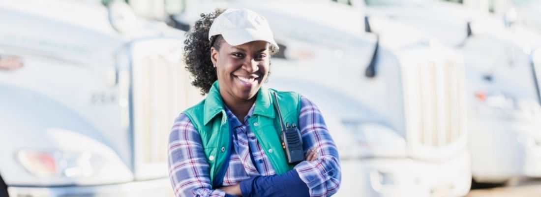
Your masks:
<svg viewBox="0 0 541 197"><path fill-rule="evenodd" d="M108 140L71 109L37 92L0 84L0 173L8 186L94 185L132 180ZM95 169L96 176L38 177L23 167L19 150L78 154L89 152L109 167ZM100 176L114 168L112 176ZM116 176L116 177L114 177Z"/></svg>

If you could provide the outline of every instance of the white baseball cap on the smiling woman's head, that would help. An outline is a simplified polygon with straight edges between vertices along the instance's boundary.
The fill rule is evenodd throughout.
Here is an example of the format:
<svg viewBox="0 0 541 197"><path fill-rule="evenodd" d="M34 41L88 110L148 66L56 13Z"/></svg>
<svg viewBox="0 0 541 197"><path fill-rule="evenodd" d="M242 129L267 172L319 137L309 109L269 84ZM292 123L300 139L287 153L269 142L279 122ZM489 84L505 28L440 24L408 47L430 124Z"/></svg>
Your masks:
<svg viewBox="0 0 541 197"><path fill-rule="evenodd" d="M234 46L252 41L267 41L278 48L267 19L249 9L229 8L216 17L210 25L208 39L220 34L227 43Z"/></svg>

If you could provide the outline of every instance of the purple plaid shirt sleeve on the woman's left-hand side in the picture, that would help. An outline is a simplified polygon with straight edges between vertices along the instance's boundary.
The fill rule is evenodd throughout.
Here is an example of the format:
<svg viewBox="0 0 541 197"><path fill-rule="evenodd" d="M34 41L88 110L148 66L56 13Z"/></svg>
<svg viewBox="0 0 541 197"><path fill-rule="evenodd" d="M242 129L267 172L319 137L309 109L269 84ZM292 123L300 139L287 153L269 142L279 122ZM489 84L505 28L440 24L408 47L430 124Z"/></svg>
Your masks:
<svg viewBox="0 0 541 197"><path fill-rule="evenodd" d="M201 137L188 116L181 114L169 134L169 178L175 196L225 196L212 189Z"/></svg>

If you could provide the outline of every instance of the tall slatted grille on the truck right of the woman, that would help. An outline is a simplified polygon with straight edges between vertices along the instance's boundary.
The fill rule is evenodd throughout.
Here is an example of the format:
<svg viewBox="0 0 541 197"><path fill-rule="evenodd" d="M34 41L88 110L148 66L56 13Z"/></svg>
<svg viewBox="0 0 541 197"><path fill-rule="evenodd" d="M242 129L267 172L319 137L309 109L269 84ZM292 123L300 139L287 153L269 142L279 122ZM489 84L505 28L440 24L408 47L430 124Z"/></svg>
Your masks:
<svg viewBox="0 0 541 197"><path fill-rule="evenodd" d="M464 139L463 65L428 60L404 71L408 143L441 148Z"/></svg>

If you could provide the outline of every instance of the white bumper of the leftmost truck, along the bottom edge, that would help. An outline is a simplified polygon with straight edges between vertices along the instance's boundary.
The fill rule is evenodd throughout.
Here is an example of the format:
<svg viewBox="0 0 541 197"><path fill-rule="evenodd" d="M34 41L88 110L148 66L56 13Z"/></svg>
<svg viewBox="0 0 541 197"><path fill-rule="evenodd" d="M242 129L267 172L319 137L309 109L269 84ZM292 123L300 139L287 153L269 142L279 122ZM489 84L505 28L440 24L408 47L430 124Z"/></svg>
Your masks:
<svg viewBox="0 0 541 197"><path fill-rule="evenodd" d="M70 187L8 186L10 197L19 196L173 196L169 179L135 181L115 185Z"/></svg>

